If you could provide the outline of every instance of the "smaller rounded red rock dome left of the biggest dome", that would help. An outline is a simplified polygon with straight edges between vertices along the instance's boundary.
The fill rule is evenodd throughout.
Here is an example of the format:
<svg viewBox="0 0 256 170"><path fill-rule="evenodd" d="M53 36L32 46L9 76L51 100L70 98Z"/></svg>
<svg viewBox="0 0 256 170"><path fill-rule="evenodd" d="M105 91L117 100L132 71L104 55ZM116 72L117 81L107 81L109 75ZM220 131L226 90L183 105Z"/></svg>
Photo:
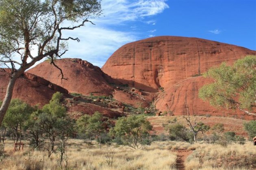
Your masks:
<svg viewBox="0 0 256 170"><path fill-rule="evenodd" d="M49 62L38 64L27 72L60 85L70 93L83 95L93 93L96 96L107 96L113 91L113 87L108 83L119 84L118 81L111 79L111 77L102 72L99 67L81 59L66 58L56 60L55 64L62 69L64 77L68 78L68 80L61 81L60 71Z"/></svg>

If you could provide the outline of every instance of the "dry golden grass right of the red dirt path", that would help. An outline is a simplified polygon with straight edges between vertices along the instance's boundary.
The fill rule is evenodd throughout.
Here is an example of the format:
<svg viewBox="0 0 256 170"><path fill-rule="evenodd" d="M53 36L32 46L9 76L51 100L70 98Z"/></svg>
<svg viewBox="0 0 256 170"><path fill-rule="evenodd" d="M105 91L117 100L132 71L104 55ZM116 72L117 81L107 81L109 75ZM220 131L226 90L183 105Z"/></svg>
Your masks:
<svg viewBox="0 0 256 170"><path fill-rule="evenodd" d="M219 144L193 144L195 148L185 161L186 169L255 169L256 148L252 142L244 145L230 144L223 147ZM189 147L188 147L189 148Z"/></svg>

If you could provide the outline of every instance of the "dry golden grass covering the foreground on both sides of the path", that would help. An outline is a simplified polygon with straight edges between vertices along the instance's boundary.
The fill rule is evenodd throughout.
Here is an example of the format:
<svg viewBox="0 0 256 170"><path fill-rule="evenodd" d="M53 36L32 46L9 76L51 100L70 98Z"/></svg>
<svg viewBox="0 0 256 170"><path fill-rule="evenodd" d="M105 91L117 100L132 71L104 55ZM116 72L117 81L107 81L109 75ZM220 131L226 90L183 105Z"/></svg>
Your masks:
<svg viewBox="0 0 256 170"><path fill-rule="evenodd" d="M133 150L116 144L103 145L99 148L96 142L90 144L84 140L69 140L67 155L62 166L59 166L60 154L48 158L46 152L36 151L25 142L23 151L13 153L13 142L7 140L5 157L0 163L2 170L170 170L176 169L178 151L191 150L184 166L187 170L245 170L256 168L256 149L252 142L244 145L229 144L222 147L218 144L203 142L189 144L187 142L163 141L153 142L143 149ZM113 162L108 166L107 158Z"/></svg>

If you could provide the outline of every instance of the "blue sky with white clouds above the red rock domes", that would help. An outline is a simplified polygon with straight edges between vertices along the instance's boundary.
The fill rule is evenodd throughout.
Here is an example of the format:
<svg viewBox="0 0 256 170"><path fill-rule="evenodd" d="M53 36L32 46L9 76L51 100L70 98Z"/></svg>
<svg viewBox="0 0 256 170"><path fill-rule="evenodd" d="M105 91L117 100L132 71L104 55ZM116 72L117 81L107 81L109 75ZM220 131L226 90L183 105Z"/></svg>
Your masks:
<svg viewBox="0 0 256 170"><path fill-rule="evenodd" d="M187 36L256 50L256 0L102 0L102 13L66 36L63 57L102 67L119 47L152 36Z"/></svg>

